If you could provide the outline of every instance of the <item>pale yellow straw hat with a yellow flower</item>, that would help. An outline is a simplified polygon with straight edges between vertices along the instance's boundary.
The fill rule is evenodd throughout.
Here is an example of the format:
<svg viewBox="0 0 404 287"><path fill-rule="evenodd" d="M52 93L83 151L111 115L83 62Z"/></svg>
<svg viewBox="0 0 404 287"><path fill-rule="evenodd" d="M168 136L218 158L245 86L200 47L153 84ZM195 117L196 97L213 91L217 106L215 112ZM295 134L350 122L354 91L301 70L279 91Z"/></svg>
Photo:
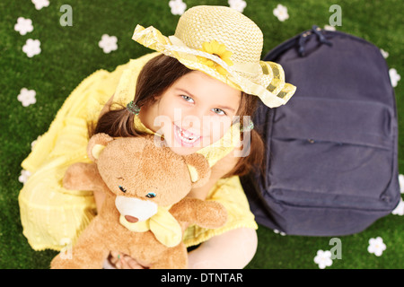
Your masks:
<svg viewBox="0 0 404 287"><path fill-rule="evenodd" d="M173 36L153 26L136 26L132 39L177 58L189 69L204 72L246 93L269 108L293 96L281 65L260 61L263 36L249 18L229 7L195 6L183 13Z"/></svg>

